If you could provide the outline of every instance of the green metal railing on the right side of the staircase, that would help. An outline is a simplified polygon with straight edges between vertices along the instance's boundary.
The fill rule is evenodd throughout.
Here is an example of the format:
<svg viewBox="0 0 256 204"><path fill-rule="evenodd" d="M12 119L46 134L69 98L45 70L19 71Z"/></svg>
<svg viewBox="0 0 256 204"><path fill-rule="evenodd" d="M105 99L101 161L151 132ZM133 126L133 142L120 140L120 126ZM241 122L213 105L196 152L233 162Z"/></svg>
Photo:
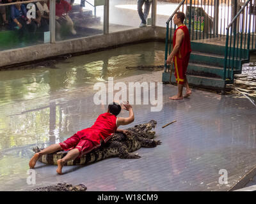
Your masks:
<svg viewBox="0 0 256 204"><path fill-rule="evenodd" d="M233 81L234 71L241 71L241 62L250 59L255 42L255 0L244 3L226 28L226 47L223 80Z"/></svg>

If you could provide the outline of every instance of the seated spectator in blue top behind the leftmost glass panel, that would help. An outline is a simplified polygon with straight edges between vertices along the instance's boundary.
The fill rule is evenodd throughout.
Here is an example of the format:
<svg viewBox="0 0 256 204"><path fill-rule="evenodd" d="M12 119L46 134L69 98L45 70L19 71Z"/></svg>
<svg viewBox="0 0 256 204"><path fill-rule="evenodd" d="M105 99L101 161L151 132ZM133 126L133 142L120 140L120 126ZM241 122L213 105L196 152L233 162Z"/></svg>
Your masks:
<svg viewBox="0 0 256 204"><path fill-rule="evenodd" d="M13 2L20 3L20 0L13 0ZM20 31L20 37L23 37L24 34L35 33L36 24L27 17L27 10L24 4L20 3L11 6L10 29L18 29Z"/></svg>

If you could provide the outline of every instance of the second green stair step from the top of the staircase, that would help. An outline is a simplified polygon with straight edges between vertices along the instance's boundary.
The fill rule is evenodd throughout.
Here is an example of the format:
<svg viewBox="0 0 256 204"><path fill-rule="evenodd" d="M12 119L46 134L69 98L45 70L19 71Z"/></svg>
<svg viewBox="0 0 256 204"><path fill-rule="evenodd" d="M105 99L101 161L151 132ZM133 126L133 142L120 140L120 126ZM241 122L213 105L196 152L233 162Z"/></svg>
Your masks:
<svg viewBox="0 0 256 204"><path fill-rule="evenodd" d="M244 61L246 59L243 59ZM207 64L210 66L224 66L225 57L223 55L208 54L202 52L191 52L189 62L194 62L196 64ZM232 65L232 60L230 61L230 66ZM236 70L241 70L242 62L240 60L234 60L234 68Z"/></svg>

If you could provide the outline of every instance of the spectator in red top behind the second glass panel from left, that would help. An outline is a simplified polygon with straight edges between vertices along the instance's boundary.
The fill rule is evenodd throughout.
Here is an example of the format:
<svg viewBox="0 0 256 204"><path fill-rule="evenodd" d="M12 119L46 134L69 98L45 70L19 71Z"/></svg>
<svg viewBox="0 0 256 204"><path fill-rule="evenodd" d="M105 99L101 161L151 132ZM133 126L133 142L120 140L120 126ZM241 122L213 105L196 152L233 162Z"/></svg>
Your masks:
<svg viewBox="0 0 256 204"><path fill-rule="evenodd" d="M73 35L76 35L76 30L74 29L74 23L68 15L68 11L71 10L70 4L65 0L56 0L56 39L61 40L60 31L61 27L64 25L68 27L68 30Z"/></svg>

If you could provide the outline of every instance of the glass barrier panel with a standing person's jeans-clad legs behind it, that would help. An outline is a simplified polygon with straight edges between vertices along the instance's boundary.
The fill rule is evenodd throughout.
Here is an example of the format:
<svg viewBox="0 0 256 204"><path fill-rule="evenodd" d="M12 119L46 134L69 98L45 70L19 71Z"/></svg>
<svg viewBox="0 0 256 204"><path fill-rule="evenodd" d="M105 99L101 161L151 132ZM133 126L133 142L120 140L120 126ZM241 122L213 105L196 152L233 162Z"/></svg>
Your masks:
<svg viewBox="0 0 256 204"><path fill-rule="evenodd" d="M152 2L144 0L109 1L109 33L151 25L151 7Z"/></svg>

